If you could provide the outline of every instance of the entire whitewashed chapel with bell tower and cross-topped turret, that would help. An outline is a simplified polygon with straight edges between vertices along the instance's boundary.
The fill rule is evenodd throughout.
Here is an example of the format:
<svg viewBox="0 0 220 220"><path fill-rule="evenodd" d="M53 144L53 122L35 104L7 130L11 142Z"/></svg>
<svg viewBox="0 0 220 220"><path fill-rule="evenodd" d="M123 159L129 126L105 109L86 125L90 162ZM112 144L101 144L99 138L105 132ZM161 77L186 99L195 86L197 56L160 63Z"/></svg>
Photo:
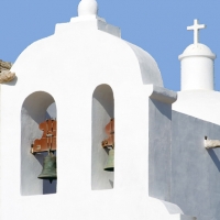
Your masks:
<svg viewBox="0 0 220 220"><path fill-rule="evenodd" d="M0 61L0 219L219 220L220 94L204 28L187 28L179 92L96 0L13 66Z"/></svg>

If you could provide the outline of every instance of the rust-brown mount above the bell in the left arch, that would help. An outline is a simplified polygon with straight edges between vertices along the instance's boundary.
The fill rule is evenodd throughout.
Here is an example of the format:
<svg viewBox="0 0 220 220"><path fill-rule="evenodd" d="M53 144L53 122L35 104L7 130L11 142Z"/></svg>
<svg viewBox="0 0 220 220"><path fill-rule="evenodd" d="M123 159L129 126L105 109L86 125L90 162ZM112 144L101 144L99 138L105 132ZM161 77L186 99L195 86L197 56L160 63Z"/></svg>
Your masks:
<svg viewBox="0 0 220 220"><path fill-rule="evenodd" d="M42 139L36 139L32 146L31 153L41 153L56 151L56 121L53 119L46 120L38 124L43 131Z"/></svg>

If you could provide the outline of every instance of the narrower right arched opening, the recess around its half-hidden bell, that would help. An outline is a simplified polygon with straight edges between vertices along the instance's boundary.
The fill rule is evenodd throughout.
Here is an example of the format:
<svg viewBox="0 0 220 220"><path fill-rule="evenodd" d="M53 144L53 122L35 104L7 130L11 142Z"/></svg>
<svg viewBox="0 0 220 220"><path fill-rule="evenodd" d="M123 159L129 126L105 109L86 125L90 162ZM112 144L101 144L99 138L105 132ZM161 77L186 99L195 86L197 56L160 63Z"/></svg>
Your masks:
<svg viewBox="0 0 220 220"><path fill-rule="evenodd" d="M114 118L113 91L108 85L98 86L92 95L91 124L91 189L112 189L114 173L105 170L109 160L109 147L102 142L109 136L106 127Z"/></svg>

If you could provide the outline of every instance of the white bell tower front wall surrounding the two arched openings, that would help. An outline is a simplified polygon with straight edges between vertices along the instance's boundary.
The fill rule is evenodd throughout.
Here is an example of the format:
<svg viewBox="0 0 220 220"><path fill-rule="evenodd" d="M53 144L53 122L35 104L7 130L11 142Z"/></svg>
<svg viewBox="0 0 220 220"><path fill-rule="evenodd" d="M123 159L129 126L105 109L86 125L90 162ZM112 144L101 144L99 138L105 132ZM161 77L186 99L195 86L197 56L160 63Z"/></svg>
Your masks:
<svg viewBox="0 0 220 220"><path fill-rule="evenodd" d="M140 47L109 32L99 30L96 18L59 24L54 35L30 45L14 63L11 70L19 80L1 87L1 125L4 128L1 132L1 219L36 220L41 216L54 220L102 220L106 217L179 220L179 213L170 215L164 204L148 197L148 128L155 112L163 119L154 122L155 128L163 128L156 145L170 144L170 120L160 113L163 107L150 111L152 99L148 96L156 94L158 106L167 106L165 111L168 109L170 113L176 95L148 86L163 87L156 62ZM103 84L111 87L114 98L114 184L111 190L105 187L91 190L92 129L100 129L92 128L91 120L101 120L97 123L101 124L112 117L98 111L102 118L98 114L92 118L92 94ZM37 96L42 103L28 100L35 91L45 91L53 98ZM23 160L20 116L25 99L31 103L29 112L37 113L36 121L56 101L58 180L54 195L22 196L20 191ZM35 157L26 151L25 154L34 166ZM26 176L33 176L33 170L29 169ZM31 189L32 185L29 187ZM33 212L36 207L40 216Z"/></svg>

